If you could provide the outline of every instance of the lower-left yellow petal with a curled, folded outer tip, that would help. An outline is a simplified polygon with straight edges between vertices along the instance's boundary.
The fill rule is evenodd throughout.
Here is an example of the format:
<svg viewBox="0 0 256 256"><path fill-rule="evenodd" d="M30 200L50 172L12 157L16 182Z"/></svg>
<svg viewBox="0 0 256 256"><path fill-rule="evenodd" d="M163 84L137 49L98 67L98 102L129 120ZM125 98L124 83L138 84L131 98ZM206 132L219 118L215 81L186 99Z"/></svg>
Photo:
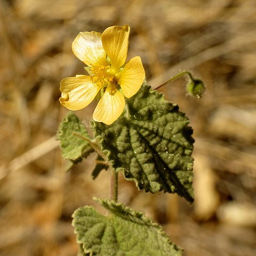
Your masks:
<svg viewBox="0 0 256 256"><path fill-rule="evenodd" d="M99 90L90 76L67 77L60 82L60 103L69 110L79 110L88 106Z"/></svg>

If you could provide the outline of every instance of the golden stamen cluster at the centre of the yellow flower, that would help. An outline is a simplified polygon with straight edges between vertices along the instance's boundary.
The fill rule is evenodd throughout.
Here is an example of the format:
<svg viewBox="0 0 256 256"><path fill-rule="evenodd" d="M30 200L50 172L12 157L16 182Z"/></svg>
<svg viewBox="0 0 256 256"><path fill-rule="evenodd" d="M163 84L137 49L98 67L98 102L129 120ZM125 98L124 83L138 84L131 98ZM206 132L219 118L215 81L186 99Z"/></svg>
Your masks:
<svg viewBox="0 0 256 256"><path fill-rule="evenodd" d="M105 87L107 85L116 84L116 74L110 66L96 66L91 67L90 71L93 73L91 76L92 82L96 83L100 87Z"/></svg>

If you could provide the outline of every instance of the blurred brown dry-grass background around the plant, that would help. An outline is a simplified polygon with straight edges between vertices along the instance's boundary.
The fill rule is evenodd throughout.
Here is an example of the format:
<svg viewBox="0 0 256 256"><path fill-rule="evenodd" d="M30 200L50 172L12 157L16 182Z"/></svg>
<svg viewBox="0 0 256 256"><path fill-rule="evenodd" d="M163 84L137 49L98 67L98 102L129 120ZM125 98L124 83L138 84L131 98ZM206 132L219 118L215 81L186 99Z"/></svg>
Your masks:
<svg viewBox="0 0 256 256"><path fill-rule="evenodd" d="M256 253L255 0L0 1L0 255L75 256L71 214L109 197L109 174L92 181L95 155L65 172L55 133L67 109L62 78L85 74L71 51L79 31L131 27L128 59L140 55L156 87L194 129L195 203L138 191L120 175L119 200L164 226L184 255ZM89 126L95 104L76 114ZM102 211L99 206L95 206Z"/></svg>

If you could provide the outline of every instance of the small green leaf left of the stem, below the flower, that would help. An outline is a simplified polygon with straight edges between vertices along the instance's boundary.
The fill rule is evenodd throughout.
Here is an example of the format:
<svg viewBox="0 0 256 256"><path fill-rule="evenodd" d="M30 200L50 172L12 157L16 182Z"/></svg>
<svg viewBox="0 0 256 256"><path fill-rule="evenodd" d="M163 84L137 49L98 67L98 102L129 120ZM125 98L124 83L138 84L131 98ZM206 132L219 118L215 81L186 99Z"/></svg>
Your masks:
<svg viewBox="0 0 256 256"><path fill-rule="evenodd" d="M86 141L91 139L86 127L72 112L62 119L56 138L60 140L62 157L72 162L82 161L82 157L87 157L94 151Z"/></svg>

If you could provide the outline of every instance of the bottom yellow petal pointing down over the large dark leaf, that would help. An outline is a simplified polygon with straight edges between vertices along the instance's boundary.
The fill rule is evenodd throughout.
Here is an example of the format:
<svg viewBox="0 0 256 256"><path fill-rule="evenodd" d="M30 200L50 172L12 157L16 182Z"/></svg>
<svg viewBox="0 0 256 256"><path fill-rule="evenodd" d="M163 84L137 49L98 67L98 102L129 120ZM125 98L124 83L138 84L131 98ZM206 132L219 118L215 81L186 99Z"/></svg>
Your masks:
<svg viewBox="0 0 256 256"><path fill-rule="evenodd" d="M110 86L107 87L93 113L93 119L97 122L111 124L122 114L125 100L122 93L115 91L111 94Z"/></svg>

